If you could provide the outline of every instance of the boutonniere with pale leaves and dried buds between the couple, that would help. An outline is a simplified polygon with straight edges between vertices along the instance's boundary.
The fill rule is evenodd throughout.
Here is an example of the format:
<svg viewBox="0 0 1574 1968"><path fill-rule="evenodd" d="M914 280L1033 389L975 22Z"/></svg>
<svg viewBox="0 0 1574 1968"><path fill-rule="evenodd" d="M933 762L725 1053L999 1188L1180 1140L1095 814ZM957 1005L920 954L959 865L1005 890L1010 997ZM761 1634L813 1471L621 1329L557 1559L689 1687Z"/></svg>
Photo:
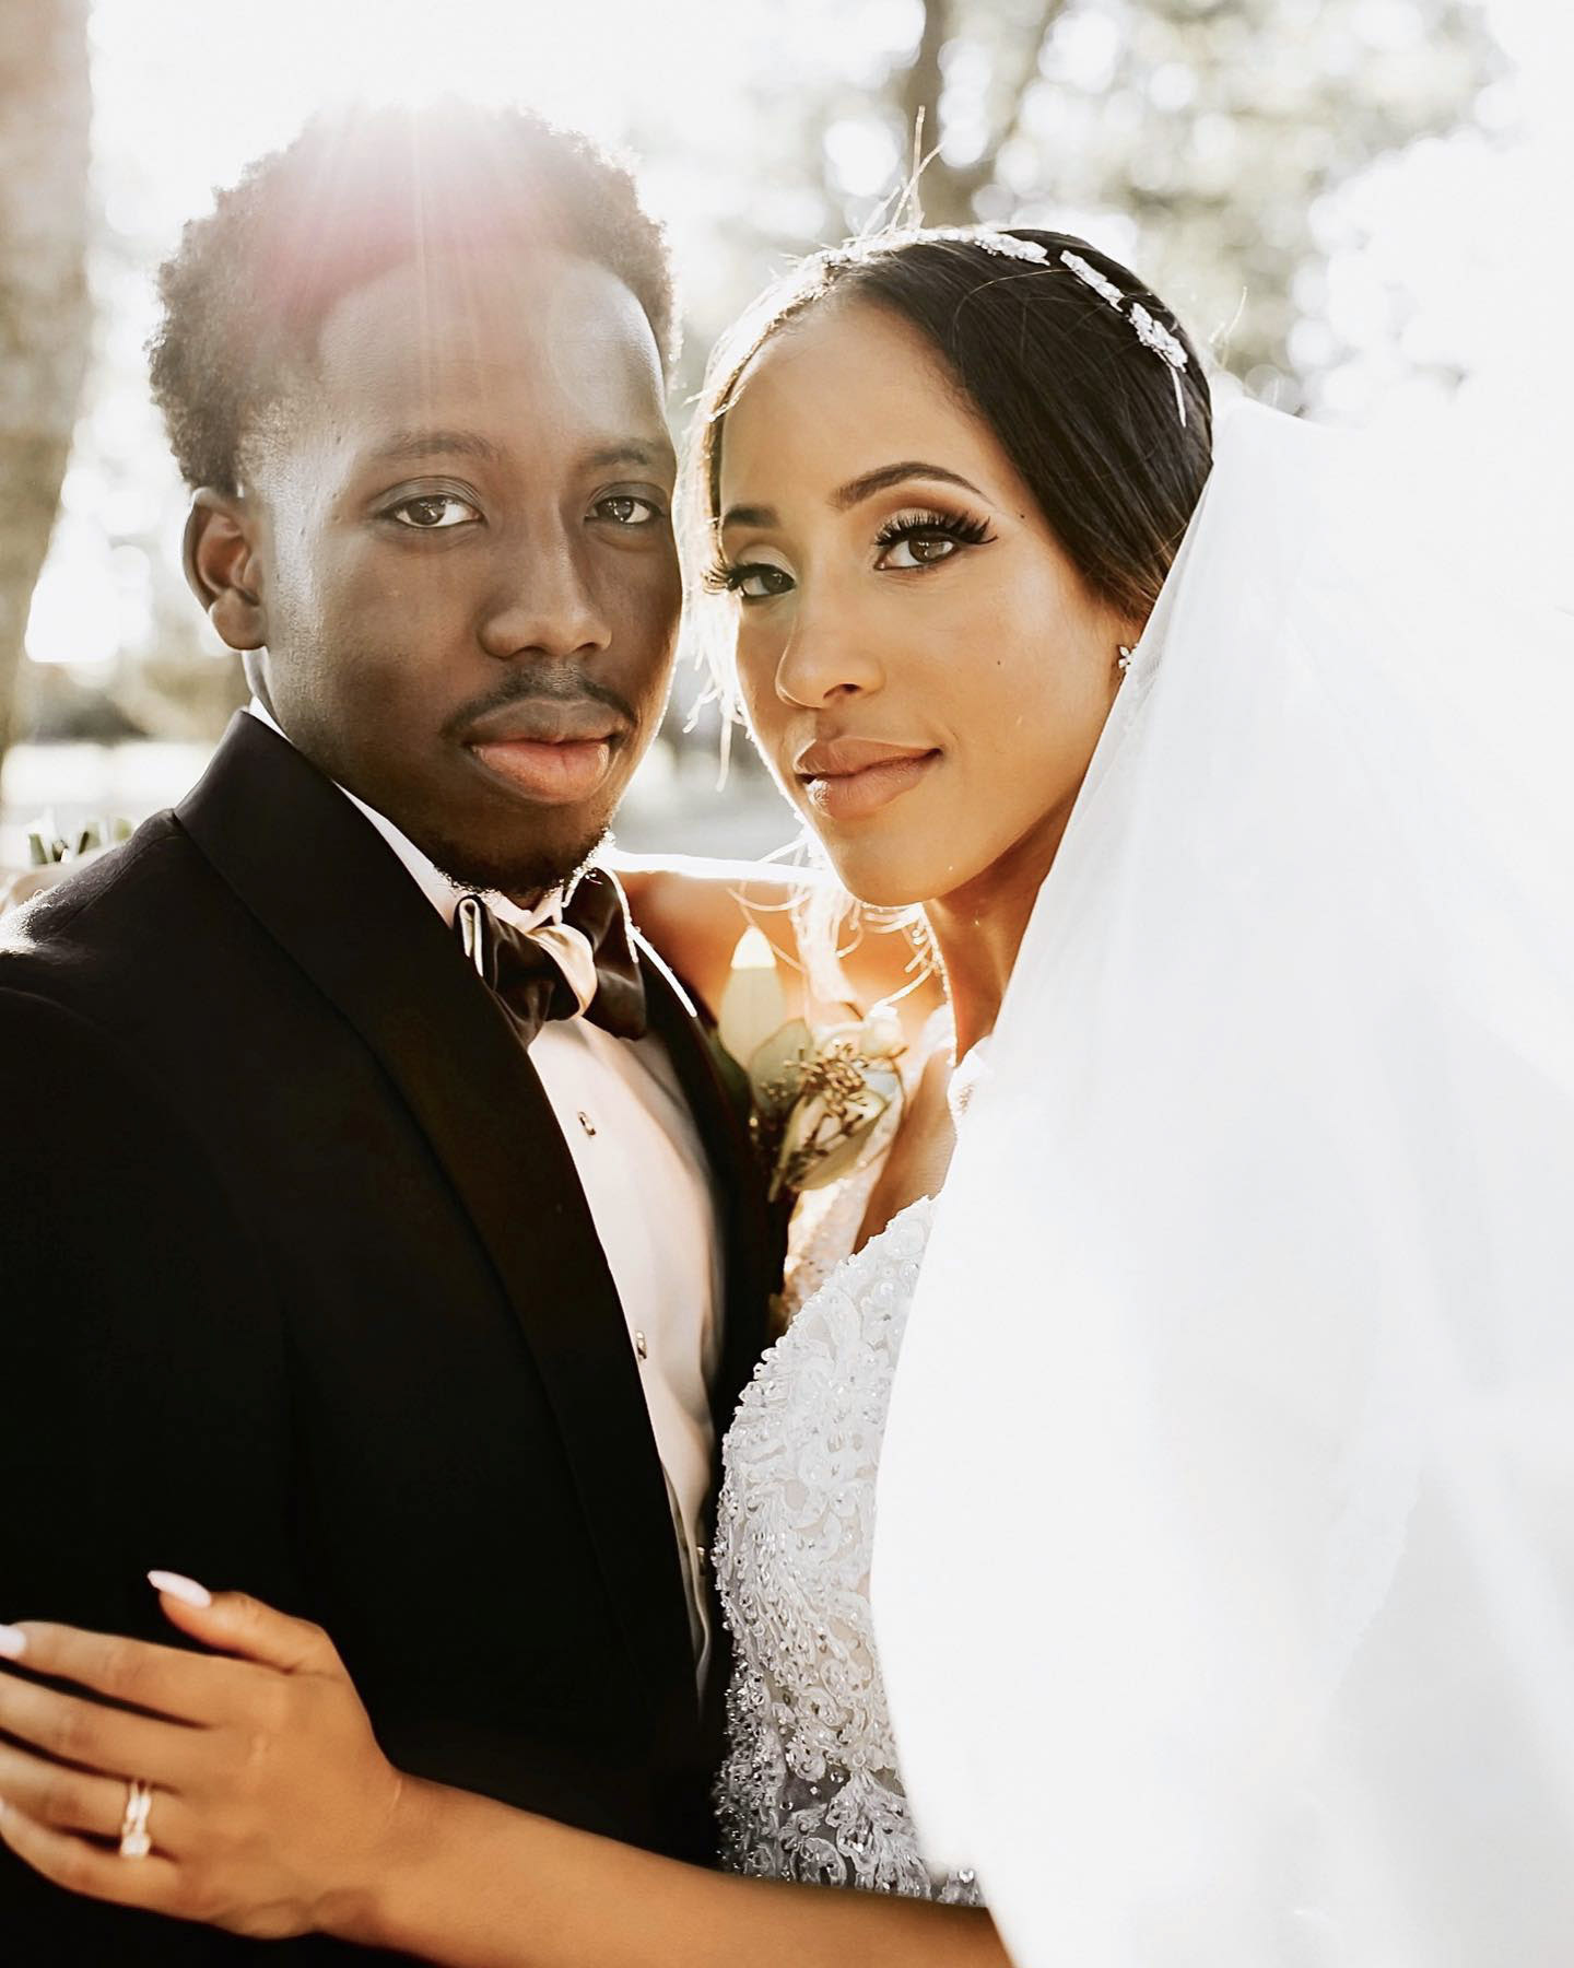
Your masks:
<svg viewBox="0 0 1574 1968"><path fill-rule="evenodd" d="M901 1112L905 1045L889 1008L826 1027L789 1019L775 954L757 929L732 954L716 1029L750 1080L750 1128L773 1202L850 1175L881 1120Z"/></svg>

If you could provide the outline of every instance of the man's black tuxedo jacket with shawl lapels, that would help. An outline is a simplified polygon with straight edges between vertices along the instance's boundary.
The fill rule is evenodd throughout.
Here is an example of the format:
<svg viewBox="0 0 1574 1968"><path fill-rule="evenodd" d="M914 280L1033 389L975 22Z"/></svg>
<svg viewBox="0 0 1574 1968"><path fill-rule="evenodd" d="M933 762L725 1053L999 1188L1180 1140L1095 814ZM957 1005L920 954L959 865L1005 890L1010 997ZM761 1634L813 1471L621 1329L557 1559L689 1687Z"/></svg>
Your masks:
<svg viewBox="0 0 1574 1968"><path fill-rule="evenodd" d="M728 1226L720 1437L779 1238L641 960ZM258 720L0 935L0 1618L171 1639L148 1567L246 1588L333 1633L401 1767L708 1858L714 1702L569 1149L431 903ZM0 1854L18 1968L250 1952Z"/></svg>

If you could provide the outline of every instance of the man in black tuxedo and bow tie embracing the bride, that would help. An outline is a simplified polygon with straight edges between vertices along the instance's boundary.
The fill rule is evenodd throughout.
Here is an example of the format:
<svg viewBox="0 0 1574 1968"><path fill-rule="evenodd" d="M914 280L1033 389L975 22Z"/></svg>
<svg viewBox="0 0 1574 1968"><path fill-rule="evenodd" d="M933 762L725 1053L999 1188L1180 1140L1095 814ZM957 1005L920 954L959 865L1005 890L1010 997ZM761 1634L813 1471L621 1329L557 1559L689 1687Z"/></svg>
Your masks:
<svg viewBox="0 0 1574 1968"><path fill-rule="evenodd" d="M161 293L256 697L0 935L0 1616L173 1639L150 1567L242 1586L395 1763L704 1860L777 1254L687 1000L573 886L671 675L661 234L576 138L388 114L256 165ZM250 1952L8 1856L0 1937Z"/></svg>

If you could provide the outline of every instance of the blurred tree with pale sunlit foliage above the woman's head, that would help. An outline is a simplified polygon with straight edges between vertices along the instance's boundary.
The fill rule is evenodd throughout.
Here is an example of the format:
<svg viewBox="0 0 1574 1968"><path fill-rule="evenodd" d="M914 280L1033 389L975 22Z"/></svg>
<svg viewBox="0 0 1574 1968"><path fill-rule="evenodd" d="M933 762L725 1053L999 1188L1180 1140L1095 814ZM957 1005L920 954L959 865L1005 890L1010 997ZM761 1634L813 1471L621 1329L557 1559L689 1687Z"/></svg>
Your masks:
<svg viewBox="0 0 1574 1968"><path fill-rule="evenodd" d="M822 30L811 12L783 10L757 155L730 157L748 203L718 232L752 238L761 274L878 222L923 112L927 222L1092 234L1285 407L1346 356L1322 309L1328 195L1468 126L1503 71L1476 0L878 0L876 63L834 6Z"/></svg>

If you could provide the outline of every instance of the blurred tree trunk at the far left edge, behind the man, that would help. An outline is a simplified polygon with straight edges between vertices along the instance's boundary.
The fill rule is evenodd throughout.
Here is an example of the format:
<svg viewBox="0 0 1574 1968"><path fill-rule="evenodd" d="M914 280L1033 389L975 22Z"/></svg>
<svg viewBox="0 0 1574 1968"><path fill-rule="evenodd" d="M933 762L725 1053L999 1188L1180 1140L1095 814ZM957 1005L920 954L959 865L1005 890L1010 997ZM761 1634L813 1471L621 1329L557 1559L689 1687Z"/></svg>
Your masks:
<svg viewBox="0 0 1574 1968"><path fill-rule="evenodd" d="M0 760L87 366L87 0L0 8Z"/></svg>

